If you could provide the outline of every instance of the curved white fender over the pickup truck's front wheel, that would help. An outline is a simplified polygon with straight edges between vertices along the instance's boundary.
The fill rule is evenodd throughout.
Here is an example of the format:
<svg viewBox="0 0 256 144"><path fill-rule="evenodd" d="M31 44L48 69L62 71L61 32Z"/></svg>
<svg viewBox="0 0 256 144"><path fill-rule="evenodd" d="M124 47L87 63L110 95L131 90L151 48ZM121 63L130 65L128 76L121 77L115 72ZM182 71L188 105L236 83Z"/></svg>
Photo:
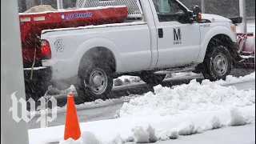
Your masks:
<svg viewBox="0 0 256 144"><path fill-rule="evenodd" d="M208 44L214 36L223 34L229 37L233 42L237 42L237 36L234 31L228 29L226 26L214 26L212 27L204 37L201 37L201 50L197 59L197 62L203 62Z"/></svg>

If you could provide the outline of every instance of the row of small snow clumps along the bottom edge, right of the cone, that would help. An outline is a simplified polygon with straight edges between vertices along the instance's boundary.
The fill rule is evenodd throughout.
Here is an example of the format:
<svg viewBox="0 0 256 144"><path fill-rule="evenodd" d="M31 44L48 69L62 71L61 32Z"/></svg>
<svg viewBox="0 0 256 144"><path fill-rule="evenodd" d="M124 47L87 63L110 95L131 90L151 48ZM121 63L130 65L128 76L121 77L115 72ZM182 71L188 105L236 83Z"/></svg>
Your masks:
<svg viewBox="0 0 256 144"><path fill-rule="evenodd" d="M177 139L179 135L202 134L206 130L215 130L223 126L243 126L250 122L244 118L245 116L237 109L230 109L230 121L227 125L222 124L220 118L213 116L207 120L206 125L198 126L195 129L194 122L188 120L181 122L177 127L170 131L156 130L149 126L144 130L142 126L137 126L132 131L134 132L134 140L136 143L153 143L157 141L166 141L170 139ZM127 142L127 141L126 141Z"/></svg>

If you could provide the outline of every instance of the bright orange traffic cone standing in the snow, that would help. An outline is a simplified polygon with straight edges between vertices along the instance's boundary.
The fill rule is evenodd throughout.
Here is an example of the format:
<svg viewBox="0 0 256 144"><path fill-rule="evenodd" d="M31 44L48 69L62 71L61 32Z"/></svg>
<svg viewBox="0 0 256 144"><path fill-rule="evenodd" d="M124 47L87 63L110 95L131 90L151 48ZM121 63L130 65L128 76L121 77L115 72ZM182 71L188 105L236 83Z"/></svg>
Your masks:
<svg viewBox="0 0 256 144"><path fill-rule="evenodd" d="M78 122L78 115L74 105L73 94L70 93L67 96L67 106L66 106L66 124L64 140L68 138L73 138L77 140L81 137L81 130Z"/></svg>

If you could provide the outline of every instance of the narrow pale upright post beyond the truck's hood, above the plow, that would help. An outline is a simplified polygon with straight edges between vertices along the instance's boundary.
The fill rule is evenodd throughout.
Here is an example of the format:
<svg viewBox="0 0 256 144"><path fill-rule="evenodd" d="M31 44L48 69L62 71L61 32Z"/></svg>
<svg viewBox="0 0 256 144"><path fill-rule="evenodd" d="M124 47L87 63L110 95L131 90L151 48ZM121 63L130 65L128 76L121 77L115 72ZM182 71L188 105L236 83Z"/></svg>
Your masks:
<svg viewBox="0 0 256 144"><path fill-rule="evenodd" d="M240 17L242 17L241 32L246 33L247 32L246 0L239 0L239 11L240 11Z"/></svg>

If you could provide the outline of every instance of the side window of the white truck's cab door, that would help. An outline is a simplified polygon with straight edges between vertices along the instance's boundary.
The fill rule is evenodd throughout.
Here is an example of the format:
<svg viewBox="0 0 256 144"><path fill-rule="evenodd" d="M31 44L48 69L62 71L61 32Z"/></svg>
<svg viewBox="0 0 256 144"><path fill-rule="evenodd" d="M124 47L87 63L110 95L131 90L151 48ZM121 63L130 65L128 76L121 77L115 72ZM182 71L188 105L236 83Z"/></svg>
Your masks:
<svg viewBox="0 0 256 144"><path fill-rule="evenodd" d="M159 22L179 21L184 10L174 0L153 0Z"/></svg>

